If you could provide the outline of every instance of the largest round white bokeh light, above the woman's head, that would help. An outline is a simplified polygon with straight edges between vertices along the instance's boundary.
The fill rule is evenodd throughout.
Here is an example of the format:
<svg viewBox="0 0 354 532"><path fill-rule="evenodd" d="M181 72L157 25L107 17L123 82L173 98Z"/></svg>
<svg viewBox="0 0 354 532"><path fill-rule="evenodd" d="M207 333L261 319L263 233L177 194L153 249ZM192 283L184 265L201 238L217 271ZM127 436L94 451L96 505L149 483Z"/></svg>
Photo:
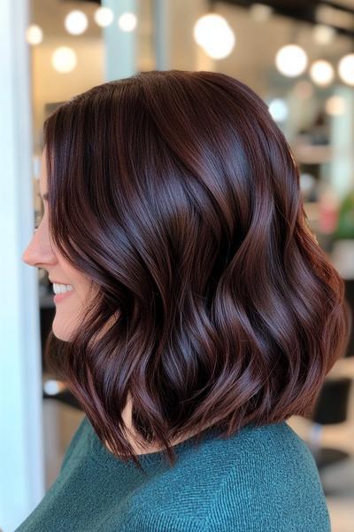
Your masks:
<svg viewBox="0 0 354 532"><path fill-rule="evenodd" d="M221 15L203 15L193 27L196 43L212 59L224 59L234 50L236 37L227 20Z"/></svg>

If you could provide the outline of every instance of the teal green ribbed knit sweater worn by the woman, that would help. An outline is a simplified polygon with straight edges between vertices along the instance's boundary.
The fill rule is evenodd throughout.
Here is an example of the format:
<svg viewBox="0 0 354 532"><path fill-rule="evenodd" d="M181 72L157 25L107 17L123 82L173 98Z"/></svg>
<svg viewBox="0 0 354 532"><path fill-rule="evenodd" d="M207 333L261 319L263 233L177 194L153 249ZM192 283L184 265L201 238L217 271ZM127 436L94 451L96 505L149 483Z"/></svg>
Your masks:
<svg viewBox="0 0 354 532"><path fill-rule="evenodd" d="M147 477L107 450L85 416L60 473L15 532L328 532L319 473L286 423L243 427L223 440L215 428L141 455Z"/></svg>

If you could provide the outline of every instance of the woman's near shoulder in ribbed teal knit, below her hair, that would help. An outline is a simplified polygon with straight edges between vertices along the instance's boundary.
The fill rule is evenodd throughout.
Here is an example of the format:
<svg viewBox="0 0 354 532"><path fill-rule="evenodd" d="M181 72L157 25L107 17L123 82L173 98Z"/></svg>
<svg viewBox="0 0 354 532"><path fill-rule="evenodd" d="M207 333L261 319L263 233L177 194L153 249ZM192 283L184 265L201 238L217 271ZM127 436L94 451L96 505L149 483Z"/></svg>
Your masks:
<svg viewBox="0 0 354 532"><path fill-rule="evenodd" d="M209 439L145 488L147 530L330 531L312 453L285 422Z"/></svg>

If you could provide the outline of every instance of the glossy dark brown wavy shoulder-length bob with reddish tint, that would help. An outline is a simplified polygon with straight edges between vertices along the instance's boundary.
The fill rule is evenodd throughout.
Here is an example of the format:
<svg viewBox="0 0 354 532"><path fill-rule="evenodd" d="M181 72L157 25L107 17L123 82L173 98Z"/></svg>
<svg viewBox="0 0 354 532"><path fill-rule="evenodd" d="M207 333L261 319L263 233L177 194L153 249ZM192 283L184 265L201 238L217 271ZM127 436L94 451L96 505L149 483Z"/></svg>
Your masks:
<svg viewBox="0 0 354 532"><path fill-rule="evenodd" d="M51 238L97 288L45 360L101 441L142 469L129 397L170 465L205 426L309 417L351 314L266 103L226 74L140 72L59 106L43 145Z"/></svg>

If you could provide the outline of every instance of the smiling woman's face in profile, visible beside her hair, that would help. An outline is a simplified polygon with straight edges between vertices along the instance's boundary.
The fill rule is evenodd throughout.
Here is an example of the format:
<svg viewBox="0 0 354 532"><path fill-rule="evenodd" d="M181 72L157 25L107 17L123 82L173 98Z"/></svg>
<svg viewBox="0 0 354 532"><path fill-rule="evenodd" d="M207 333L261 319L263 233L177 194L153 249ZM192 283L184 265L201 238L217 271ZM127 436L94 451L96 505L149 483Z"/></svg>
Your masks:
<svg viewBox="0 0 354 532"><path fill-rule="evenodd" d="M59 340L69 340L81 317L91 283L88 278L75 270L57 250L52 248L46 193L47 174L43 152L40 194L43 200L44 214L34 236L22 254L22 260L30 266L47 270L50 281L59 285L60 288L59 286L55 286L55 288L59 288L60 291L65 287L72 288L63 295L60 294L55 297L56 314L52 325L53 333Z"/></svg>

